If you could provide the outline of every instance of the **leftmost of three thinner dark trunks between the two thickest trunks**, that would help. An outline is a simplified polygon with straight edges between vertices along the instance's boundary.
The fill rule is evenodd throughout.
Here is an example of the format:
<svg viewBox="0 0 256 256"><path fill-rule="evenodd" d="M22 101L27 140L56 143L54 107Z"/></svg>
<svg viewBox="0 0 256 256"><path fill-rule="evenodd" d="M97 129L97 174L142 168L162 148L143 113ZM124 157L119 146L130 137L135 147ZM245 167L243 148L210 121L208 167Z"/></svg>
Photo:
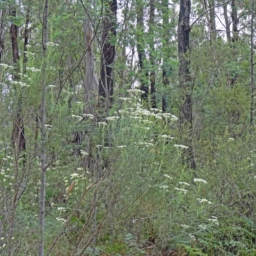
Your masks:
<svg viewBox="0 0 256 256"><path fill-rule="evenodd" d="M144 47L144 20L143 20L143 6L140 3L140 0L136 0L136 12L137 12L137 36L136 36L136 43L137 43L137 52L138 52L138 59L139 59L139 65L140 70L142 72L141 77L141 85L140 90L142 90L145 93L141 94L141 100L148 102L148 72L144 70L144 61L146 59L145 55L145 47Z"/></svg>

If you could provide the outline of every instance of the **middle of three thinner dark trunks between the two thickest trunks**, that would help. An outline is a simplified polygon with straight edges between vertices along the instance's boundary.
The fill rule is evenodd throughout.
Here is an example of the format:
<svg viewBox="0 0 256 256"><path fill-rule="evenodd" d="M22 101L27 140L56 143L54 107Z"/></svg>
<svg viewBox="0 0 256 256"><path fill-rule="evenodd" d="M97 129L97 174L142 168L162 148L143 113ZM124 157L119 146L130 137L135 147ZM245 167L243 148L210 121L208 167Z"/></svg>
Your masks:
<svg viewBox="0 0 256 256"><path fill-rule="evenodd" d="M149 26L149 33L150 33L150 65L151 65L151 70L150 70L150 106L151 108L156 108L156 72L154 70L154 65L155 65L155 40L154 40L154 22L155 22L155 3L154 0L150 2L150 13L149 13L149 21L148 21L148 26Z"/></svg>

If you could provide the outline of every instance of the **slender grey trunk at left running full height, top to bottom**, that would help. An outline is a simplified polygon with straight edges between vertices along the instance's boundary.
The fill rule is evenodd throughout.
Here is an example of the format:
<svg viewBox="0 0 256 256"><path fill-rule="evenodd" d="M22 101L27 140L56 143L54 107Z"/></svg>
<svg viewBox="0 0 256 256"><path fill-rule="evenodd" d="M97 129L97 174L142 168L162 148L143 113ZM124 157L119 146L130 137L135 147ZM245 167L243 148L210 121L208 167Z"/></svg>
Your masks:
<svg viewBox="0 0 256 256"><path fill-rule="evenodd" d="M48 0L44 4L44 19L43 19L43 58L42 76L45 76L45 61L47 54L48 42ZM42 82L42 100L41 100L41 188L40 188L40 209L39 209L39 227L40 241L38 248L38 256L44 256L44 233L45 233L45 190L46 190L46 147L45 147L45 122L46 122L46 84Z"/></svg>

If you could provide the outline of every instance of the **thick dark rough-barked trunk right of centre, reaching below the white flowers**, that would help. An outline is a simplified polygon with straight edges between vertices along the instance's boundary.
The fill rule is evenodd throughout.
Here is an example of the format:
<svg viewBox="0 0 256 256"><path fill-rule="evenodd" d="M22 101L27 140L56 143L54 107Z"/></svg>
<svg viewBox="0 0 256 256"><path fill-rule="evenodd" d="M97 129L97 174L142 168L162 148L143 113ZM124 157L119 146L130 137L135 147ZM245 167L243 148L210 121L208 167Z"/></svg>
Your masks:
<svg viewBox="0 0 256 256"><path fill-rule="evenodd" d="M181 91L180 106L180 129L188 127L189 130L189 148L186 159L190 168L195 169L196 163L191 148L191 136L193 130L192 124L192 90L191 78L189 74L189 19L190 19L191 1L180 0L179 26L178 26L178 51L179 51L179 86Z"/></svg>

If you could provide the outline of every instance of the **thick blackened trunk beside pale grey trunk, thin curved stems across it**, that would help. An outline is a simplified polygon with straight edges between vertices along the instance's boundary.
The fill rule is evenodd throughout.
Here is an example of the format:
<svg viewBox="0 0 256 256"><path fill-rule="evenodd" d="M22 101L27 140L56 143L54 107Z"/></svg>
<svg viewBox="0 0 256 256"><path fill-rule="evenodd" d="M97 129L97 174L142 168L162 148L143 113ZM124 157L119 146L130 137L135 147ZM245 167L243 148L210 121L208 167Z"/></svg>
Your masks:
<svg viewBox="0 0 256 256"><path fill-rule="evenodd" d="M115 36L117 1L106 2L101 41L99 100L105 104L106 115L113 104L113 65L115 61ZM100 104L101 106L104 104Z"/></svg>

